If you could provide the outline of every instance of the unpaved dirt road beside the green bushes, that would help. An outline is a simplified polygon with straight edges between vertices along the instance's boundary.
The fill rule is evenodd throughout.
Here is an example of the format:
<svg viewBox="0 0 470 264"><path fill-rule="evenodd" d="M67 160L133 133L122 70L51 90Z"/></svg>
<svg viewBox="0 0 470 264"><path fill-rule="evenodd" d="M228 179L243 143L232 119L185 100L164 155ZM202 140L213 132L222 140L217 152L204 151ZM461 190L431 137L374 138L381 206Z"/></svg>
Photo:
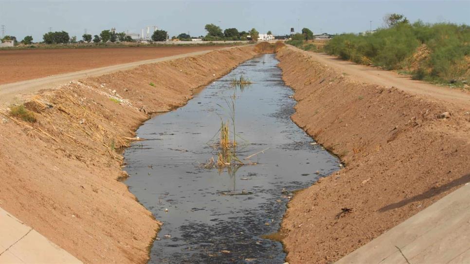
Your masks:
<svg viewBox="0 0 470 264"><path fill-rule="evenodd" d="M296 49L293 48L292 49ZM299 49L301 50L301 49ZM381 70L376 67L364 66L344 61L325 53L302 52L317 62L336 68L357 82L373 83L382 86L394 86L408 93L426 97L430 100L443 100L461 106L470 106L470 93L449 87L440 87L431 83L411 80L393 71Z"/></svg>

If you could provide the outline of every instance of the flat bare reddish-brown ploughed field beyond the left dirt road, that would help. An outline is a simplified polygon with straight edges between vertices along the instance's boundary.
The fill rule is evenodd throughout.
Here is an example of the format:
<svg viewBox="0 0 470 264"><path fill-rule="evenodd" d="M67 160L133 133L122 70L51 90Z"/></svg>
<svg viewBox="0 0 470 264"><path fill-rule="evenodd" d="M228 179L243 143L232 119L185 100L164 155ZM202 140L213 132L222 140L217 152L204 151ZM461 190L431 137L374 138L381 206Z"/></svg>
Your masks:
<svg viewBox="0 0 470 264"><path fill-rule="evenodd" d="M0 50L0 84L223 47Z"/></svg>

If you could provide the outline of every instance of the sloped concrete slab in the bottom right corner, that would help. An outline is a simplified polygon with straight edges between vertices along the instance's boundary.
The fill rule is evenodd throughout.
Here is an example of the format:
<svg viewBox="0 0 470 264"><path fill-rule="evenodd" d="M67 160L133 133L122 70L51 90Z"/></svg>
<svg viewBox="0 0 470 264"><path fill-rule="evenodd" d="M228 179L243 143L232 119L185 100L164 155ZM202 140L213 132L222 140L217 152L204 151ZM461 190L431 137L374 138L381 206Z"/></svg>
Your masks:
<svg viewBox="0 0 470 264"><path fill-rule="evenodd" d="M336 264L470 264L470 184Z"/></svg>

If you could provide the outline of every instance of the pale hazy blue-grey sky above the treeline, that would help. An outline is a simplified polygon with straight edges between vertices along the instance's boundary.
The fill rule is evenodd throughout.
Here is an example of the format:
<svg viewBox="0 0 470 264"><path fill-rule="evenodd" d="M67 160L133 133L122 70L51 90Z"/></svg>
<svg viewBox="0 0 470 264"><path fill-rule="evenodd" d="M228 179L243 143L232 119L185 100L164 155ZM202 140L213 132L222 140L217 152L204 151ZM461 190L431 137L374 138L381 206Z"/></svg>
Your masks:
<svg viewBox="0 0 470 264"><path fill-rule="evenodd" d="M204 25L214 23L222 29L239 31L256 28L260 33L271 30L286 34L310 28L314 33L362 32L382 25L387 13L401 13L409 20L453 22L470 25L470 0L414 1L85 1L85 0L0 0L0 24L5 34L22 39L33 35L67 31L81 39L84 30L94 35L115 27L117 31L140 33L145 26L156 25L171 35L190 32L205 35ZM0 32L1 33L1 32Z"/></svg>

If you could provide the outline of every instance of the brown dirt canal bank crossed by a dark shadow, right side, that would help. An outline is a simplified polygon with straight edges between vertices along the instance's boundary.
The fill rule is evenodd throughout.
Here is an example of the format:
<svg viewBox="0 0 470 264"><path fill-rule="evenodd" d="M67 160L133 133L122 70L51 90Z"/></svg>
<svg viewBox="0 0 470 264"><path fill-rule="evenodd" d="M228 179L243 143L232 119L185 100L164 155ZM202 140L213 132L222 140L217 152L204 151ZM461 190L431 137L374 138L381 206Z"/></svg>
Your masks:
<svg viewBox="0 0 470 264"><path fill-rule="evenodd" d="M278 58L292 119L345 164L289 203L289 263L332 263L470 181L470 109L355 82L294 49Z"/></svg>

